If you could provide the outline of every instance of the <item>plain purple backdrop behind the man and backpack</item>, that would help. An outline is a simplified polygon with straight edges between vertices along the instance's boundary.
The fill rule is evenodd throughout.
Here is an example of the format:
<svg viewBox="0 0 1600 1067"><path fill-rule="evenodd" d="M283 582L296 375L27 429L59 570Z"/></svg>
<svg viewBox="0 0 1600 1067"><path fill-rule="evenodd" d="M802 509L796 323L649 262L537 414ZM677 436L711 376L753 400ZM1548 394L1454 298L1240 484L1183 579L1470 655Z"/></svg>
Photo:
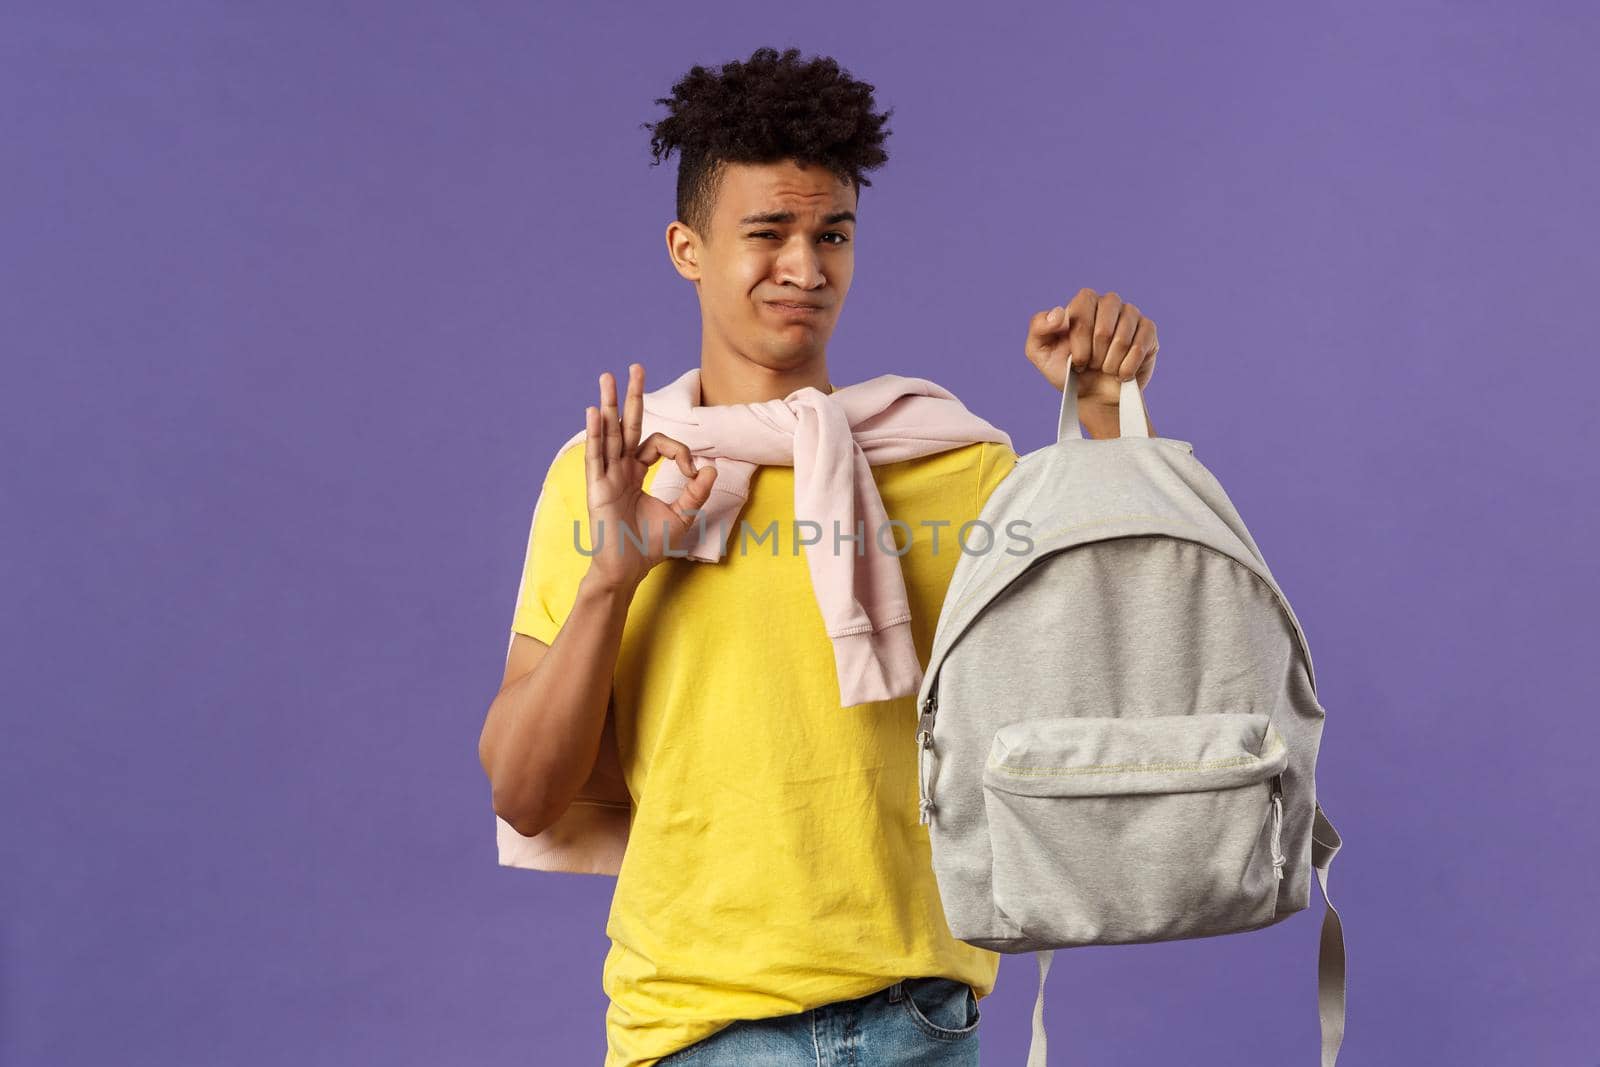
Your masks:
<svg viewBox="0 0 1600 1067"><path fill-rule="evenodd" d="M1032 312L1160 325L1330 712L1347 1061L1594 1062L1592 5L141 6L0 16L5 1064L600 1062L614 881L496 867L475 745L544 464L698 360L638 123L758 45L896 109L835 381L1029 451ZM1058 1059L1314 1062L1320 907L1059 955Z"/></svg>

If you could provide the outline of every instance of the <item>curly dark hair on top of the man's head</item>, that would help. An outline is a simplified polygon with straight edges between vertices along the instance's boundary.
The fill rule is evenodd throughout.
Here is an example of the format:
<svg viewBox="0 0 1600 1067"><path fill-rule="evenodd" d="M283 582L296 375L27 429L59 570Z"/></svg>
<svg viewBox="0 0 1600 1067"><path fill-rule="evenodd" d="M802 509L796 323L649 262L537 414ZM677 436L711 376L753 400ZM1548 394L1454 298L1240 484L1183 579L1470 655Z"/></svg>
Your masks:
<svg viewBox="0 0 1600 1067"><path fill-rule="evenodd" d="M699 64L658 98L672 114L651 131L651 166L678 150L678 219L707 237L725 163L819 165L840 179L870 186L862 173L888 160L885 126L894 109L874 114L872 85L850 77L826 56L800 59L757 48L720 72Z"/></svg>

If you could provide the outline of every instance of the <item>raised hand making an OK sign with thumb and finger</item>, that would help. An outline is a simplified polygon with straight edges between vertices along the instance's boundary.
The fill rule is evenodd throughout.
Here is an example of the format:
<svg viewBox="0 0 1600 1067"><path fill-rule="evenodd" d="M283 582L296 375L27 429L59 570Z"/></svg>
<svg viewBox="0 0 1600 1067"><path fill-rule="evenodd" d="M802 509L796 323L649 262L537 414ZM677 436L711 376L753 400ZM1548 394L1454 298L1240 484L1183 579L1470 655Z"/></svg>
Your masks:
<svg viewBox="0 0 1600 1067"><path fill-rule="evenodd" d="M638 585L667 549L678 552L694 530L691 512L706 506L717 467L707 464L699 472L688 446L666 434L638 440L645 421L645 368L627 365L627 400L622 418L616 410L616 379L611 371L600 374L600 406L584 408L584 472L589 496L589 530L592 545L600 550L589 558L589 569L606 584ZM645 472L667 456L690 483L678 499L667 504L645 493ZM632 534L624 534L624 526ZM638 542L645 542L640 550Z"/></svg>

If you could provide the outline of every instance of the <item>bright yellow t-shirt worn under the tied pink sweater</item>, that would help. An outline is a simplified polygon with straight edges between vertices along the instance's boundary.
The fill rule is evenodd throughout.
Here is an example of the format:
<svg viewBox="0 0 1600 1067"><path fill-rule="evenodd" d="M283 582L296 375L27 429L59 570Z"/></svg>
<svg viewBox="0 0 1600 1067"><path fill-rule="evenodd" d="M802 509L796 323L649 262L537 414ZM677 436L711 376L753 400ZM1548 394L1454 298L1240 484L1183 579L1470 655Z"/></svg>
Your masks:
<svg viewBox="0 0 1600 1067"><path fill-rule="evenodd" d="M957 531L1013 462L986 442L872 469L888 517L909 525L901 569L923 665ZM589 566L573 544L576 518L594 547L586 501L578 443L546 475L512 621L547 645ZM901 977L994 990L1000 957L950 934L917 817L917 699L840 707L794 518L794 469L757 469L723 560L664 560L629 608L613 683L635 811L606 921L605 1067L650 1067L736 1019ZM904 545L907 528L893 536ZM989 534L974 526L965 544L986 550Z"/></svg>

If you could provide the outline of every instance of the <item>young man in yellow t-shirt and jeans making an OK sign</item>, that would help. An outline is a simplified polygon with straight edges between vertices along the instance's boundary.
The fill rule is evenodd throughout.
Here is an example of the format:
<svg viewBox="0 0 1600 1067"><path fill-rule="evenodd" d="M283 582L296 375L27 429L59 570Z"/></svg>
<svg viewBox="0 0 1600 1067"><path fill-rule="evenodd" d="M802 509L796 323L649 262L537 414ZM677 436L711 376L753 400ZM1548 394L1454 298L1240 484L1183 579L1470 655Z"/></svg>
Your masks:
<svg viewBox="0 0 1600 1067"><path fill-rule="evenodd" d="M694 67L658 102L672 114L654 126L656 160L680 149L667 254L701 306L693 402L832 397L826 349L853 278L861 173L886 160L872 86L763 48L720 74ZM1150 320L1091 290L1035 315L1026 341L1058 390L1066 362L1078 368L1093 437L1117 434L1120 382L1146 384L1155 347ZM718 453L642 435L640 365L621 411L613 376L598 386L582 446L555 458L534 507L480 757L501 862L618 873L605 1065L976 1064L978 998L1000 957L944 920L917 811L915 691L842 701L808 566L830 549L802 552L790 533L800 461L762 464L739 490L738 522L776 523L774 544L734 534L725 558L685 558L691 512L722 477L694 456ZM909 541L899 569L920 662L955 531L1014 461L1008 443L976 440L870 470L883 512L910 530L896 545ZM666 464L683 482L670 502L650 494ZM624 525L643 544L619 537ZM619 856L594 845L624 837Z"/></svg>

